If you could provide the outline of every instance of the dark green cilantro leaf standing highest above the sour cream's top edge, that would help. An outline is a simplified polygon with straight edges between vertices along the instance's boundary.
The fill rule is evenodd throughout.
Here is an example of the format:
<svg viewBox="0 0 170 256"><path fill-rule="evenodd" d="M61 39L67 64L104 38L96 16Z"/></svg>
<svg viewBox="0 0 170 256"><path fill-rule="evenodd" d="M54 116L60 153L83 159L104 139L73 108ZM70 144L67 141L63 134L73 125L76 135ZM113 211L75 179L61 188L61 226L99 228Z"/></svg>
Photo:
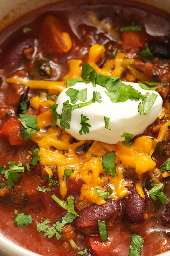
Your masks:
<svg viewBox="0 0 170 256"><path fill-rule="evenodd" d="M82 78L87 82L92 82L93 86L96 87L96 77L96 71L88 63L84 63L82 68Z"/></svg>

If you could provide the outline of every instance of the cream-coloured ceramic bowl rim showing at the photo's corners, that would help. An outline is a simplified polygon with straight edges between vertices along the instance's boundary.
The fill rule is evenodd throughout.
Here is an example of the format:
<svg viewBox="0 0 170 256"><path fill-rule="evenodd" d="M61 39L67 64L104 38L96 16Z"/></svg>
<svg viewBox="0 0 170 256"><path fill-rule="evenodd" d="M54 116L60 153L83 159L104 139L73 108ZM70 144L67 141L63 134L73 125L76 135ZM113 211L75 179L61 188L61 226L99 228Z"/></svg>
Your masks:
<svg viewBox="0 0 170 256"><path fill-rule="evenodd" d="M26 12L34 10L43 5L54 3L60 0L0 0L0 31L9 25L16 18ZM78 1L78 0L77 0ZM104 1L104 0L103 0ZM121 0L119 0L121 2ZM128 1L128 0L127 0ZM170 14L170 0L134 0L144 4L158 7ZM32 255L38 254L26 250L0 234L0 255ZM159 254L160 256L170 256L170 251ZM159 256L157 255L157 256Z"/></svg>

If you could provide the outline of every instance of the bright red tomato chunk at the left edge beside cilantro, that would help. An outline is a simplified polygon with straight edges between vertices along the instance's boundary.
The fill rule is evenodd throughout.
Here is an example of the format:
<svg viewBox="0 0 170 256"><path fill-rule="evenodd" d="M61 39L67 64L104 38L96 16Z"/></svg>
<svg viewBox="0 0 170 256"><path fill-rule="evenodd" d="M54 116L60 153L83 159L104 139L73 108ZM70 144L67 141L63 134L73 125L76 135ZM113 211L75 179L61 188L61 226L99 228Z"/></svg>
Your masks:
<svg viewBox="0 0 170 256"><path fill-rule="evenodd" d="M22 134L20 134L21 128L22 124L20 121L12 116L8 121L4 123L0 133L2 136L9 138L11 145L23 145L25 144L25 141L22 137Z"/></svg>

